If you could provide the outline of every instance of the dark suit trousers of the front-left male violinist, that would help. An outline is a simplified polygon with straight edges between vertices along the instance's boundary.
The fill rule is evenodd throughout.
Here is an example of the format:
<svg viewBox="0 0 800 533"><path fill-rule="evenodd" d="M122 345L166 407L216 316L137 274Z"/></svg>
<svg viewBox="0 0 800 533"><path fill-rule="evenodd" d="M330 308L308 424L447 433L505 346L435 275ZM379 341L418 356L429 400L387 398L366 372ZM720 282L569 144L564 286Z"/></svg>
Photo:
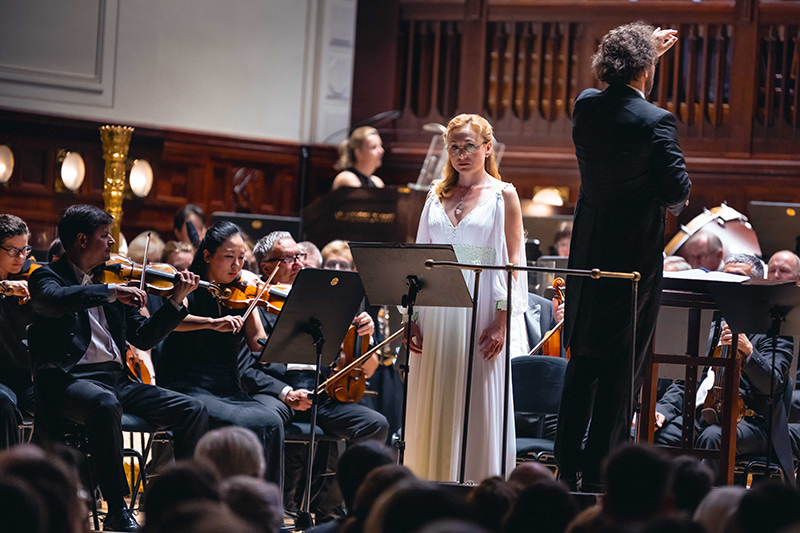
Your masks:
<svg viewBox="0 0 800 533"><path fill-rule="evenodd" d="M136 383L116 363L76 366L69 373L42 369L35 384L36 401L46 415L51 438L63 437L64 420L83 426L95 479L107 500L129 492L122 456L123 411L172 430L179 459L191 457L197 441L208 431L208 411L202 403Z"/></svg>

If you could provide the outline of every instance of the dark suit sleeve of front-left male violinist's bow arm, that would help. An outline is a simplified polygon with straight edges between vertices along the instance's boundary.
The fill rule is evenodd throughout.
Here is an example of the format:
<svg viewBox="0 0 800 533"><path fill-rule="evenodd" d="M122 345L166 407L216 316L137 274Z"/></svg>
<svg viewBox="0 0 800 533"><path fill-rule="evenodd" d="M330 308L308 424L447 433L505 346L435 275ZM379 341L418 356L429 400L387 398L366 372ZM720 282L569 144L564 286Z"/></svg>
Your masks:
<svg viewBox="0 0 800 533"><path fill-rule="evenodd" d="M31 305L36 313L59 318L108 302L108 285L64 286L56 274L48 270L40 268L31 275Z"/></svg>

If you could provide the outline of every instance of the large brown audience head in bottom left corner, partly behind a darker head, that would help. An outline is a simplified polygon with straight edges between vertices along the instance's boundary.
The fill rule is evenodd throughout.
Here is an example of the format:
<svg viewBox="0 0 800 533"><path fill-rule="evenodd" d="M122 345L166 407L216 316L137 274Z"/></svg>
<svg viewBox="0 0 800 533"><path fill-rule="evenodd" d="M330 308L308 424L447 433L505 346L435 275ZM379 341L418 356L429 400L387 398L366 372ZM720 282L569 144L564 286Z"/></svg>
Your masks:
<svg viewBox="0 0 800 533"><path fill-rule="evenodd" d="M80 497L81 485L77 471L60 457L46 453L33 445L9 448L0 453L0 479L15 478L25 480L28 488L36 493L46 510L39 515L41 531L46 533L87 531L86 505ZM17 497L22 496L24 494ZM5 521L0 523L4 527L8 524Z"/></svg>

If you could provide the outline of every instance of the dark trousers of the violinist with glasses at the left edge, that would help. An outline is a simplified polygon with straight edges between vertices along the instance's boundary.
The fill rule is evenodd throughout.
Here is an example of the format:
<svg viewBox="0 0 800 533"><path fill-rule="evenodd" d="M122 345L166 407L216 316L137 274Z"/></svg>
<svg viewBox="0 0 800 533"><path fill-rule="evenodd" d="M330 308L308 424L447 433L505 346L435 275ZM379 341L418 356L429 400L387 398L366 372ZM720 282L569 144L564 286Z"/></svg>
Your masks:
<svg viewBox="0 0 800 533"><path fill-rule="evenodd" d="M0 369L0 450L19 444L23 415L33 416L33 381L22 368Z"/></svg>

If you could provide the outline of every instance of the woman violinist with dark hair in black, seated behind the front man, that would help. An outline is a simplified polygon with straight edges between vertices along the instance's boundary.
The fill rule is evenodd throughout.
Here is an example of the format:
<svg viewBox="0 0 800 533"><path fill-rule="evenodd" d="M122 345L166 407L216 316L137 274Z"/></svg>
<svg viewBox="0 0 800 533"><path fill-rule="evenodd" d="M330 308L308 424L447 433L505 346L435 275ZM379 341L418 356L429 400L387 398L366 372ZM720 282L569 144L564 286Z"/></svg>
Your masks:
<svg viewBox="0 0 800 533"><path fill-rule="evenodd" d="M245 243L236 224L220 221L206 231L189 271L205 281L231 284L243 271ZM159 383L200 400L213 428L240 426L253 430L264 446L266 477L279 486L283 480L283 419L275 399L259 403L240 387L237 361L260 351L265 337L256 313L242 319L244 309L231 309L208 291L187 298L189 315L163 346Z"/></svg>

